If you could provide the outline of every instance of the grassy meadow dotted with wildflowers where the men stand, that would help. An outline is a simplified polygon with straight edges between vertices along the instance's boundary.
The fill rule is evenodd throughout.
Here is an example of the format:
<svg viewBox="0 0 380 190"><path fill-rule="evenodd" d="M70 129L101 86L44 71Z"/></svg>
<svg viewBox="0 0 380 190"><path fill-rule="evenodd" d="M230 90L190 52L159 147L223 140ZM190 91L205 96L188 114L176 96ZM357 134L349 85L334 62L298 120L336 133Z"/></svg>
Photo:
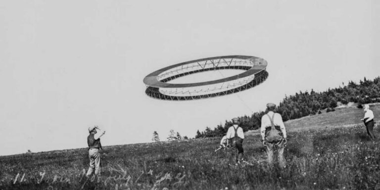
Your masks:
<svg viewBox="0 0 380 190"><path fill-rule="evenodd" d="M363 124L326 125L289 130L285 169L269 167L260 137L250 134L248 163L238 166L228 150L214 153L219 138L107 146L101 177L91 179L86 148L2 156L0 189L380 189L380 141L371 142Z"/></svg>

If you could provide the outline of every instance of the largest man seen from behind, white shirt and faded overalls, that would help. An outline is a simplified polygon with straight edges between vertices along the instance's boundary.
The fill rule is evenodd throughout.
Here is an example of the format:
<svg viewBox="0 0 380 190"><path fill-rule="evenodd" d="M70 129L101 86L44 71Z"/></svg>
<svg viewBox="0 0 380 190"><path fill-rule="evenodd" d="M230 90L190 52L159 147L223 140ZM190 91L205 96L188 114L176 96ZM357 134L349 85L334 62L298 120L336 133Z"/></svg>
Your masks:
<svg viewBox="0 0 380 190"><path fill-rule="evenodd" d="M283 118L279 113L275 113L276 105L267 104L267 114L261 118L261 139L263 145L267 147L268 163L273 162L273 149L278 148L278 158L281 167L285 167L284 148L286 144L286 130Z"/></svg>

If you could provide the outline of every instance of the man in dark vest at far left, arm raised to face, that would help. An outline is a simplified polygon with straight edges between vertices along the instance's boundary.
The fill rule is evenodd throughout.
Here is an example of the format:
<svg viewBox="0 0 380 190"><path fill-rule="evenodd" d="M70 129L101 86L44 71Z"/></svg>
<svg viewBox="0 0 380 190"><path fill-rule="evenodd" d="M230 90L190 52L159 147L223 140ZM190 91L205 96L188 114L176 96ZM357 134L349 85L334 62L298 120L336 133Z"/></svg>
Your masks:
<svg viewBox="0 0 380 190"><path fill-rule="evenodd" d="M99 130L97 132L96 130ZM100 174L100 153L99 149L101 148L100 137L105 134L105 131L100 131L99 127L89 127L90 135L87 137L87 144L89 145L89 158L90 158L90 167L87 171L86 176L90 177L95 169L95 175Z"/></svg>

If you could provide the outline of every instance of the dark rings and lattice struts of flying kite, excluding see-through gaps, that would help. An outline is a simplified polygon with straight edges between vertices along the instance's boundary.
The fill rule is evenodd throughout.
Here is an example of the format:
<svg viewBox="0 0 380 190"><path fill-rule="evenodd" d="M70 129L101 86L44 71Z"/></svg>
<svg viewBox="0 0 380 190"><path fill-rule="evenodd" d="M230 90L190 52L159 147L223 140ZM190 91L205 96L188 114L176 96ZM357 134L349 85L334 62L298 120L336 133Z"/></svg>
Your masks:
<svg viewBox="0 0 380 190"><path fill-rule="evenodd" d="M226 61L226 59L231 59L230 61ZM251 63L254 63L252 66L241 66L241 65L232 65L232 62L234 59L239 60L246 60L250 61ZM216 61L217 60L217 61ZM170 76L168 78L164 78L159 80L159 78L162 78L160 74L165 73L173 68L184 68L186 65L190 65L193 63L197 63L200 67L202 67L199 62L206 61L204 66L207 64L207 61L210 61L213 65L211 68L204 68L200 70L193 70L190 72L184 72L184 73L178 73L177 75ZM227 66L219 66L221 62L225 62ZM228 63L229 62L229 63ZM210 63L209 63L210 64ZM219 67L218 67L219 66ZM260 57L254 57L254 56L245 56L245 55L229 55L229 56L217 56L217 57L208 57L208 58L202 58L202 59L196 59L191 60L183 63L178 63L174 65L170 65L167 67L164 67L162 69L159 69L157 71L154 71L150 74L148 74L144 79L143 82L147 86L145 90L145 94L158 98L158 99L167 99L167 100L188 100L188 99L200 99L200 98L207 98L207 97L215 97L220 95L227 95L227 94L233 94L236 92L240 92L249 88L252 88L266 80L268 77L268 72L266 72L267 67L267 61ZM219 70L219 69L243 69L246 70L243 73L240 73L238 75L234 75L231 77L218 79L218 80L212 80L212 81L205 81L205 82L199 82L199 83L187 83L187 84L173 84L173 83L167 83L170 80L190 75L193 73L198 72L204 72L209 70ZM165 89L179 89L179 88L189 88L189 87L200 87L200 86L206 86L206 85L214 85L219 83L226 83L233 80L238 80L241 78L249 77L251 75L254 75L254 79L247 84L237 87L235 89L230 89L224 92L218 92L218 93L210 93L205 95L189 95L189 96L176 96L176 95L164 95L162 94L159 89L165 88Z"/></svg>

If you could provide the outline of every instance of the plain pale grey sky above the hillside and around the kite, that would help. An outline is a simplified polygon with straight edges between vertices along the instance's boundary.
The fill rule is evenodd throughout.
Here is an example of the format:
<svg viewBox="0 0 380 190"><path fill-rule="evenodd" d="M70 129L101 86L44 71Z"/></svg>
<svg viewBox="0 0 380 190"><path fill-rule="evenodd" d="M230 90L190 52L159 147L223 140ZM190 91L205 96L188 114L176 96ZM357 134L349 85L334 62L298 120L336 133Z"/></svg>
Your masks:
<svg viewBox="0 0 380 190"><path fill-rule="evenodd" d="M285 95L380 76L377 0L3 0L0 155L166 140L265 110ZM251 55L268 79L191 101L144 94L143 78L189 60Z"/></svg>

